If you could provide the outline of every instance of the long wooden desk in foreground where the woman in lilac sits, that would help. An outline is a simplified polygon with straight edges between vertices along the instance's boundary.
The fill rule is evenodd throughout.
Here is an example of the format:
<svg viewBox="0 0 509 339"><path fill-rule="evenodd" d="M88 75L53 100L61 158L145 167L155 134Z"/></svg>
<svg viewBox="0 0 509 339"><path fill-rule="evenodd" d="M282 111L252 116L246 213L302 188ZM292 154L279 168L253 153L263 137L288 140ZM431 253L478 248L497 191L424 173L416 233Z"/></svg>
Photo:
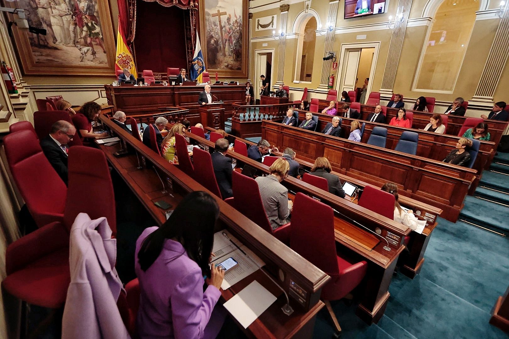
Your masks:
<svg viewBox="0 0 509 339"><path fill-rule="evenodd" d="M100 119L103 124L114 131L128 145L133 153L123 158L115 158L112 153L117 151L120 145L101 145L100 148L105 152L111 166L125 180L159 225L163 224L166 218L164 211L153 204L154 201L165 200L175 208L181 197L188 192L207 191L175 165L169 164L163 158L157 156L149 147L113 124L106 116L101 115ZM154 170L137 168L136 153L139 157L143 157L153 164L163 178L169 194L172 194L173 197L161 193L162 186ZM253 224L233 207L219 198L216 201L219 205L220 215L215 230L228 229L251 251L264 260L266 263L264 269L274 277L273 279L287 293L291 289L290 286L294 286L293 283L306 293L303 304L299 303L289 293L290 304L294 309L294 313L291 316L286 316L280 310L281 306L286 303L284 294L260 270L230 289L221 291L223 299L228 300L256 279L276 295L277 300L274 304L247 328L246 334L259 338L312 337L316 315L324 306L324 303L319 299L321 289L330 277L291 251L258 225Z"/></svg>

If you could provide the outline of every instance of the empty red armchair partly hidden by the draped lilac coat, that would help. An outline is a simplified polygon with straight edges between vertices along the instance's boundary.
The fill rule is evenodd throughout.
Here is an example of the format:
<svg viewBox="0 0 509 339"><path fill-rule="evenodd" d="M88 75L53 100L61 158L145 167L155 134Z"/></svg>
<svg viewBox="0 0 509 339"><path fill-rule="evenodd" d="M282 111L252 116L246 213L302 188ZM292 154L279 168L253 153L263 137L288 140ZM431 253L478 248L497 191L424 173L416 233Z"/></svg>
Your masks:
<svg viewBox="0 0 509 339"><path fill-rule="evenodd" d="M114 234L116 231L115 197L104 153L92 147L71 147L68 166L63 222L47 224L11 243L6 252L7 278L2 282L13 296L51 309L62 307L66 300L70 283L69 232L77 214L87 213L91 219L106 217ZM55 185L55 180L50 183Z"/></svg>

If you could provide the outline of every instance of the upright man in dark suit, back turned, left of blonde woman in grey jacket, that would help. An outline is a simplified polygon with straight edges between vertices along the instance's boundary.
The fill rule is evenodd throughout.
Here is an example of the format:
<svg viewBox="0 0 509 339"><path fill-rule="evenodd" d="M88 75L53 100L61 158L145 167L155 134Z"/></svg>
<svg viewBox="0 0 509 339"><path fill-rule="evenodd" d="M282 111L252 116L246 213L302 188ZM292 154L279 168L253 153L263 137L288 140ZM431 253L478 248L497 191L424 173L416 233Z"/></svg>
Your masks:
<svg viewBox="0 0 509 339"><path fill-rule="evenodd" d="M217 186L223 199L233 197L232 193L232 159L225 156L230 143L220 138L214 144L212 153L212 167L216 176Z"/></svg>

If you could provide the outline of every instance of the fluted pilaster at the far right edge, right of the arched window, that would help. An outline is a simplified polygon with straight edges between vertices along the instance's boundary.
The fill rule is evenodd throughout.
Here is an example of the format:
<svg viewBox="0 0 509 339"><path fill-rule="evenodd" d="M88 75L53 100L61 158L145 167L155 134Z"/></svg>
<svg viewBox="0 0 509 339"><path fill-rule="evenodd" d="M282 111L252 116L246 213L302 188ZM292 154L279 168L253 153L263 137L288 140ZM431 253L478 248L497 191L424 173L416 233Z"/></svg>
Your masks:
<svg viewBox="0 0 509 339"><path fill-rule="evenodd" d="M471 100L471 102L477 102L479 106L493 105L493 95L507 63L507 44L509 44L509 9L507 7L509 6L506 5L503 11L483 73Z"/></svg>

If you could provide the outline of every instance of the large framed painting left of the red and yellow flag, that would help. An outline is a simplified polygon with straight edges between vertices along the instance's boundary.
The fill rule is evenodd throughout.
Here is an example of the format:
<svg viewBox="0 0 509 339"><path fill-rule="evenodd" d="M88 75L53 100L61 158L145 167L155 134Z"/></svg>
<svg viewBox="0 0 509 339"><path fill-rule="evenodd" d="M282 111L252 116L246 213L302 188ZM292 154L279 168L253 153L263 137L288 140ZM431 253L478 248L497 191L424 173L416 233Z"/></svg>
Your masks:
<svg viewBox="0 0 509 339"><path fill-rule="evenodd" d="M115 40L105 0L18 0L30 29L13 25L24 74L114 75ZM11 20L16 15L9 15ZM38 34L46 30L46 35Z"/></svg>

